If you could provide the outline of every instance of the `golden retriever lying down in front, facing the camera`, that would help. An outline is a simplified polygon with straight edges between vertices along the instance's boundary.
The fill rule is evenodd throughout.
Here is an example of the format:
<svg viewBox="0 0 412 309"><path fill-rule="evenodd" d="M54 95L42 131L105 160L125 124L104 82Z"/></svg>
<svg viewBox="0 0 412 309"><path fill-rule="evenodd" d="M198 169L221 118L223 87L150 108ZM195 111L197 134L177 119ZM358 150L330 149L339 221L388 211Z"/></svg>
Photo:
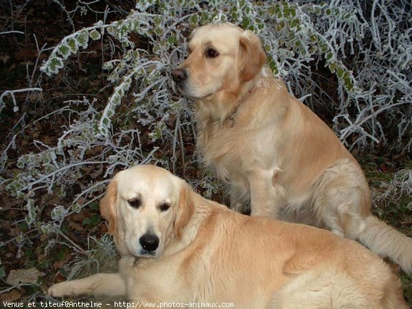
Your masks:
<svg viewBox="0 0 412 309"><path fill-rule="evenodd" d="M329 231L238 214L153 165L119 172L100 202L119 273L55 284L49 295L234 308L407 308L398 278Z"/></svg>

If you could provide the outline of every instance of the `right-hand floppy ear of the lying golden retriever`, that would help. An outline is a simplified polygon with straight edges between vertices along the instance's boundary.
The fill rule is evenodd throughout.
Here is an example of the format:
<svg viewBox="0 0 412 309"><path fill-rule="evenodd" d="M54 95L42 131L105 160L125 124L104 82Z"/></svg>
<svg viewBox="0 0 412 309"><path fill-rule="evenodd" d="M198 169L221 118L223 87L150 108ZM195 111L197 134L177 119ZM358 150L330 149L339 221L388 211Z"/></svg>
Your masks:
<svg viewBox="0 0 412 309"><path fill-rule="evenodd" d="M182 238L182 229L187 225L193 214L194 205L190 197L192 188L184 183L180 190L179 205L176 210L176 219L174 220L174 235L177 240Z"/></svg>

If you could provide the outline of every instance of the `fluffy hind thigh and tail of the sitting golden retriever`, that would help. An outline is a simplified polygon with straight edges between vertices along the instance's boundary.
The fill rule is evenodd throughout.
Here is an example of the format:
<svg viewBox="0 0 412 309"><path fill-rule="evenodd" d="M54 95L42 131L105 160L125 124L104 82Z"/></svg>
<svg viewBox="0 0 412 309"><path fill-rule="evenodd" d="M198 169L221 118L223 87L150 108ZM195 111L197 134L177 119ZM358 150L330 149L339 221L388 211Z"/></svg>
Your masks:
<svg viewBox="0 0 412 309"><path fill-rule="evenodd" d="M325 171L315 186L314 211L321 225L339 236L359 240L412 275L412 238L370 212L367 184L360 168L344 162Z"/></svg>

